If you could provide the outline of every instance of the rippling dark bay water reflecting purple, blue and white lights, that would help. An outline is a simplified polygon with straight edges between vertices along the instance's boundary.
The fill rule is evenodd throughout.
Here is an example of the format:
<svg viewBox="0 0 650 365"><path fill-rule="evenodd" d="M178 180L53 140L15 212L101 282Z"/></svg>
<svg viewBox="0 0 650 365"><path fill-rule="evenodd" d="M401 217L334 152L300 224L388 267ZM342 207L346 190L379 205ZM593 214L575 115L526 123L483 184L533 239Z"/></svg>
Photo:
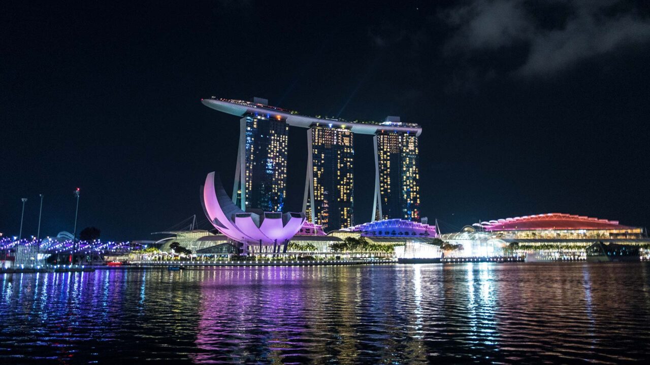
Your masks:
<svg viewBox="0 0 650 365"><path fill-rule="evenodd" d="M0 364L650 359L650 265L0 275Z"/></svg>

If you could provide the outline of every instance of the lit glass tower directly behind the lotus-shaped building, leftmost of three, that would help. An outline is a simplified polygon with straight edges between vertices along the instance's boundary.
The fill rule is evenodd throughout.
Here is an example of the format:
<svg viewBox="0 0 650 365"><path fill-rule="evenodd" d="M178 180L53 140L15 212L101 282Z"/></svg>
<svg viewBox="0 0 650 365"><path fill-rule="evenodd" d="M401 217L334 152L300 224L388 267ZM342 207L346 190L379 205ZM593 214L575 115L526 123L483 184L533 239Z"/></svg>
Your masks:
<svg viewBox="0 0 650 365"><path fill-rule="evenodd" d="M268 113L248 114L240 120L239 153L232 196L233 202L242 210L283 210L287 188L288 139L289 125Z"/></svg>

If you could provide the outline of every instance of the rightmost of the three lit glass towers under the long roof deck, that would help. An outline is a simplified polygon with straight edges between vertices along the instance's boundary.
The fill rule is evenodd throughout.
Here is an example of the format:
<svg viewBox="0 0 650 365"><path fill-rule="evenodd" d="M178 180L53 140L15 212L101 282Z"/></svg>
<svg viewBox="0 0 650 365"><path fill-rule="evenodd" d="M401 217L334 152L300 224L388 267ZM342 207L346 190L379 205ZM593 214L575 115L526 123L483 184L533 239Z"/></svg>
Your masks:
<svg viewBox="0 0 650 365"><path fill-rule="evenodd" d="M374 136L375 186L372 219L419 220L417 136L380 131Z"/></svg>

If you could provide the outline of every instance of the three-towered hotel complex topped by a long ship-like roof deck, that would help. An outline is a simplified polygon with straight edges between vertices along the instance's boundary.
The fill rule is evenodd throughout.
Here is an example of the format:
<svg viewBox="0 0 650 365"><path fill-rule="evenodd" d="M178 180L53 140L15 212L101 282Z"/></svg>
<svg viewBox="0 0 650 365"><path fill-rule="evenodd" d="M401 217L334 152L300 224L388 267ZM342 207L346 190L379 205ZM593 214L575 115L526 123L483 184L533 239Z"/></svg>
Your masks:
<svg viewBox="0 0 650 365"><path fill-rule="evenodd" d="M280 212L287 186L289 126L307 128L307 220L332 231L354 225L354 134L374 138L372 220L420 218L418 141L422 128L388 117L382 123L311 117L233 99L203 99L207 107L242 117L233 201L242 208Z"/></svg>

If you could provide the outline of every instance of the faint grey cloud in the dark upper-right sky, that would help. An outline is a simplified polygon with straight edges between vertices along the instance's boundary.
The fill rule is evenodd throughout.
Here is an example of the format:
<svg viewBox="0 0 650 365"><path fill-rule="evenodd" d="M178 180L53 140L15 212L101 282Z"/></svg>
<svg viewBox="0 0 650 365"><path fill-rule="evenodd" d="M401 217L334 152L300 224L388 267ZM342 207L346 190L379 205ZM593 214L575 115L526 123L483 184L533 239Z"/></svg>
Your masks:
<svg viewBox="0 0 650 365"><path fill-rule="evenodd" d="M526 47L509 69L528 77L549 75L619 47L650 40L650 19L618 0L480 0L441 12L454 29L447 57L475 57Z"/></svg>

